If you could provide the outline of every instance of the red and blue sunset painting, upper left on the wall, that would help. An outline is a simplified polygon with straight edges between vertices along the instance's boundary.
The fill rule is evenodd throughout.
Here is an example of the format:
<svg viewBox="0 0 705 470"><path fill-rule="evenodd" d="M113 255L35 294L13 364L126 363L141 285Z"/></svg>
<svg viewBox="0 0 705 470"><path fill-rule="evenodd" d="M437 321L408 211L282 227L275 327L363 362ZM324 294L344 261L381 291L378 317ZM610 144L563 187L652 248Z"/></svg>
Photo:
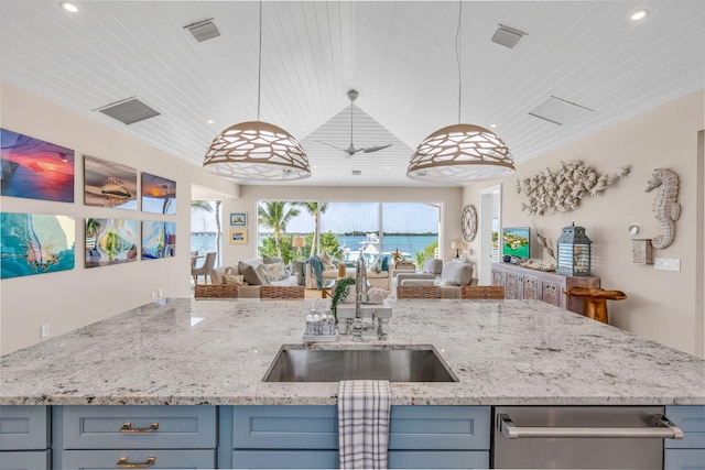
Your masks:
<svg viewBox="0 0 705 470"><path fill-rule="evenodd" d="M2 196L74 201L74 151L0 129Z"/></svg>

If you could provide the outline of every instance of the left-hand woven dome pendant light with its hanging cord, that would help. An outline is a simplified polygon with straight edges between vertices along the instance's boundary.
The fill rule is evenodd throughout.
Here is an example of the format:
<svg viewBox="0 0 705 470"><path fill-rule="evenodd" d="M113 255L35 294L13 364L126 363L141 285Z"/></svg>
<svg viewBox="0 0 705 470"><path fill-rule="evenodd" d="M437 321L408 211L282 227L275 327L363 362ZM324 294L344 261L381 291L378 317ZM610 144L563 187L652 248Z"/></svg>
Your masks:
<svg viewBox="0 0 705 470"><path fill-rule="evenodd" d="M282 128L260 121L262 75L262 2L257 76L257 121L240 122L220 132L203 162L218 175L245 181L294 181L311 176L301 144Z"/></svg>

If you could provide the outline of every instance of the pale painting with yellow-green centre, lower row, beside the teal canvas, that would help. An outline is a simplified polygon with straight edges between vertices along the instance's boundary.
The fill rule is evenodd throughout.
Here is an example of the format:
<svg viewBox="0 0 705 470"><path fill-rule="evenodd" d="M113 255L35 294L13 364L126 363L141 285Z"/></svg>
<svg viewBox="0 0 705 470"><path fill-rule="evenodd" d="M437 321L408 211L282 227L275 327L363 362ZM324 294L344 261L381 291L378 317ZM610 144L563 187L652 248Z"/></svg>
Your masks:
<svg viewBox="0 0 705 470"><path fill-rule="evenodd" d="M137 261L138 220L86 219L86 267Z"/></svg>

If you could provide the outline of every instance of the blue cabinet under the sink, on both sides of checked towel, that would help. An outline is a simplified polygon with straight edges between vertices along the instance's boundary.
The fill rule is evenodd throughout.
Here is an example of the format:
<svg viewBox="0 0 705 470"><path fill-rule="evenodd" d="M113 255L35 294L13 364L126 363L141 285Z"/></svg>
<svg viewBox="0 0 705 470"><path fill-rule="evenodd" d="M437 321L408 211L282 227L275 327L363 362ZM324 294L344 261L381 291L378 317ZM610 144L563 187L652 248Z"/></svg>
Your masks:
<svg viewBox="0 0 705 470"><path fill-rule="evenodd" d="M220 453L219 466L338 467L336 406L221 408L232 452ZM389 468L487 468L490 415L489 406L392 406Z"/></svg>

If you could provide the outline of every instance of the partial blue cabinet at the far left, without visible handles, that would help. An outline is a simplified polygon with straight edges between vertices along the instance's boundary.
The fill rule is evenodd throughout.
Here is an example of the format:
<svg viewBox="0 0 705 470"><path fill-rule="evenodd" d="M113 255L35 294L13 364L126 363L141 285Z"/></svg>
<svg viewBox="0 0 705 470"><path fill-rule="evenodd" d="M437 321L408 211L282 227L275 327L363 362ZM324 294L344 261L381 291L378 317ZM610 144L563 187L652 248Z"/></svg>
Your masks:
<svg viewBox="0 0 705 470"><path fill-rule="evenodd" d="M51 468L48 406L0 406L0 470Z"/></svg>

